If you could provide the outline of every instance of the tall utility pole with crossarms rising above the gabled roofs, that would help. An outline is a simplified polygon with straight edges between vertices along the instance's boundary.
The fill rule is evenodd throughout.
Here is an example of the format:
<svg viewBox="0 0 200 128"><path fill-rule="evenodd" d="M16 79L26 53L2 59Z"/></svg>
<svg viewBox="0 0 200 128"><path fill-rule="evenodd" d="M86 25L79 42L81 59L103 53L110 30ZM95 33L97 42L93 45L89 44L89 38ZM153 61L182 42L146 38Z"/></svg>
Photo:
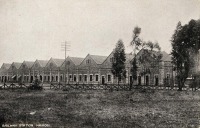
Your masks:
<svg viewBox="0 0 200 128"><path fill-rule="evenodd" d="M64 64L65 64L65 71L64 71L64 81L65 81L65 86L66 86L66 57L67 57L67 51L70 51L70 44L69 42L65 41L61 44L61 50L62 51L65 51L65 61L64 61ZM69 76L68 76L69 77Z"/></svg>

